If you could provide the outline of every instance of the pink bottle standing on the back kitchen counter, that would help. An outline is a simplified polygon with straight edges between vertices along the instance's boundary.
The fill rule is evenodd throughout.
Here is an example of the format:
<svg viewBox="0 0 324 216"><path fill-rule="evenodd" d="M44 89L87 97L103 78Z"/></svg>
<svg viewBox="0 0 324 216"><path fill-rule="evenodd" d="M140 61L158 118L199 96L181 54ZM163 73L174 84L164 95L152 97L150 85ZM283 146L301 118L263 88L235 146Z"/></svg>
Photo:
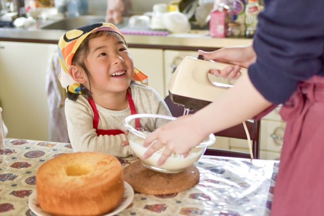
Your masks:
<svg viewBox="0 0 324 216"><path fill-rule="evenodd" d="M219 10L211 11L209 31L212 37L225 37L225 13Z"/></svg>

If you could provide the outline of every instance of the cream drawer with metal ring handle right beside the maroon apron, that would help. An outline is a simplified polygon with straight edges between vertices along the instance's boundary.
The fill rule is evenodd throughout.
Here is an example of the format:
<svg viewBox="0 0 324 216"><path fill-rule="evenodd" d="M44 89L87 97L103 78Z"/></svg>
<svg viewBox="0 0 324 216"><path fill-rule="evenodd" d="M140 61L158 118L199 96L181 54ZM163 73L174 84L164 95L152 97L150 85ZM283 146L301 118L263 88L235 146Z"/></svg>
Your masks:
<svg viewBox="0 0 324 216"><path fill-rule="evenodd" d="M261 119L260 149L281 152L286 122Z"/></svg>

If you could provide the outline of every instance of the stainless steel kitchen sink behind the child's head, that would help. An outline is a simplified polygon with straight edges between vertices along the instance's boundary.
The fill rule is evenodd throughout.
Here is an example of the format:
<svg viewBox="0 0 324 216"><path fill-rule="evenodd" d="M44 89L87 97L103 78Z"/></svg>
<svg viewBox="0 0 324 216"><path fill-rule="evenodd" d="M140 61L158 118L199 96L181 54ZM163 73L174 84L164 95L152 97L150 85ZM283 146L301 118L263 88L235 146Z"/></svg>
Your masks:
<svg viewBox="0 0 324 216"><path fill-rule="evenodd" d="M118 29L123 28L128 25L129 17L124 17L123 21L115 25ZM104 16L79 16L79 17L67 17L59 21L54 21L49 24L41 26L41 29L50 30L72 30L85 25L90 25L93 23L105 22Z"/></svg>

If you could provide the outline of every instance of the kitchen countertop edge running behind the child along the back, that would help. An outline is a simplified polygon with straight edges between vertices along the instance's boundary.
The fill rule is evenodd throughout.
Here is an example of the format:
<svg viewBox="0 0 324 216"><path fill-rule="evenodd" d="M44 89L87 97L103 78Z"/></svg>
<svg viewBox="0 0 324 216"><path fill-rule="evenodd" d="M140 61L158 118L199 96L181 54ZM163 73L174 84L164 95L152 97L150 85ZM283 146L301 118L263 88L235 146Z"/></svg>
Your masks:
<svg viewBox="0 0 324 216"><path fill-rule="evenodd" d="M42 26L57 20L37 20L36 24L27 28L0 28L0 40L20 42L41 42L56 44L65 30L47 30ZM252 39L246 38L213 38L200 34L169 34L168 36L155 35L125 35L129 47L155 48L175 50L215 50L229 46L252 44Z"/></svg>

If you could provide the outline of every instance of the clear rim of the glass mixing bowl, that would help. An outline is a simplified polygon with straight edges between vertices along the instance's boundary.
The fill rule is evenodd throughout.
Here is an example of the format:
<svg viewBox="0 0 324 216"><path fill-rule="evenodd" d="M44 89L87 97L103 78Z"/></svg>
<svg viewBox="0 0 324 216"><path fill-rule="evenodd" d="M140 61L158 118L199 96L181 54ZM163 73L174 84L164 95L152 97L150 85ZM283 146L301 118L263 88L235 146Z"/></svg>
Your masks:
<svg viewBox="0 0 324 216"><path fill-rule="evenodd" d="M127 116L123 123L124 123L124 126L128 129L128 131L132 132L133 134L145 139L148 135L147 134L144 134L143 132L141 131L137 131L136 128L134 128L130 122L132 120L134 120L135 118L142 118L142 117L153 117L153 118L163 118L163 119L168 119L168 120L175 120L177 119L176 117L172 117L172 116L168 116L168 115L159 115L159 114L134 114L134 115L129 115ZM206 142L202 142L200 143L199 145L197 145L195 148L200 148L200 147L207 147L207 146L210 146L212 144L215 143L216 141L216 138L215 138L215 135L214 134L210 134L209 136L209 140L207 140ZM153 142L156 142L156 141L153 141Z"/></svg>

